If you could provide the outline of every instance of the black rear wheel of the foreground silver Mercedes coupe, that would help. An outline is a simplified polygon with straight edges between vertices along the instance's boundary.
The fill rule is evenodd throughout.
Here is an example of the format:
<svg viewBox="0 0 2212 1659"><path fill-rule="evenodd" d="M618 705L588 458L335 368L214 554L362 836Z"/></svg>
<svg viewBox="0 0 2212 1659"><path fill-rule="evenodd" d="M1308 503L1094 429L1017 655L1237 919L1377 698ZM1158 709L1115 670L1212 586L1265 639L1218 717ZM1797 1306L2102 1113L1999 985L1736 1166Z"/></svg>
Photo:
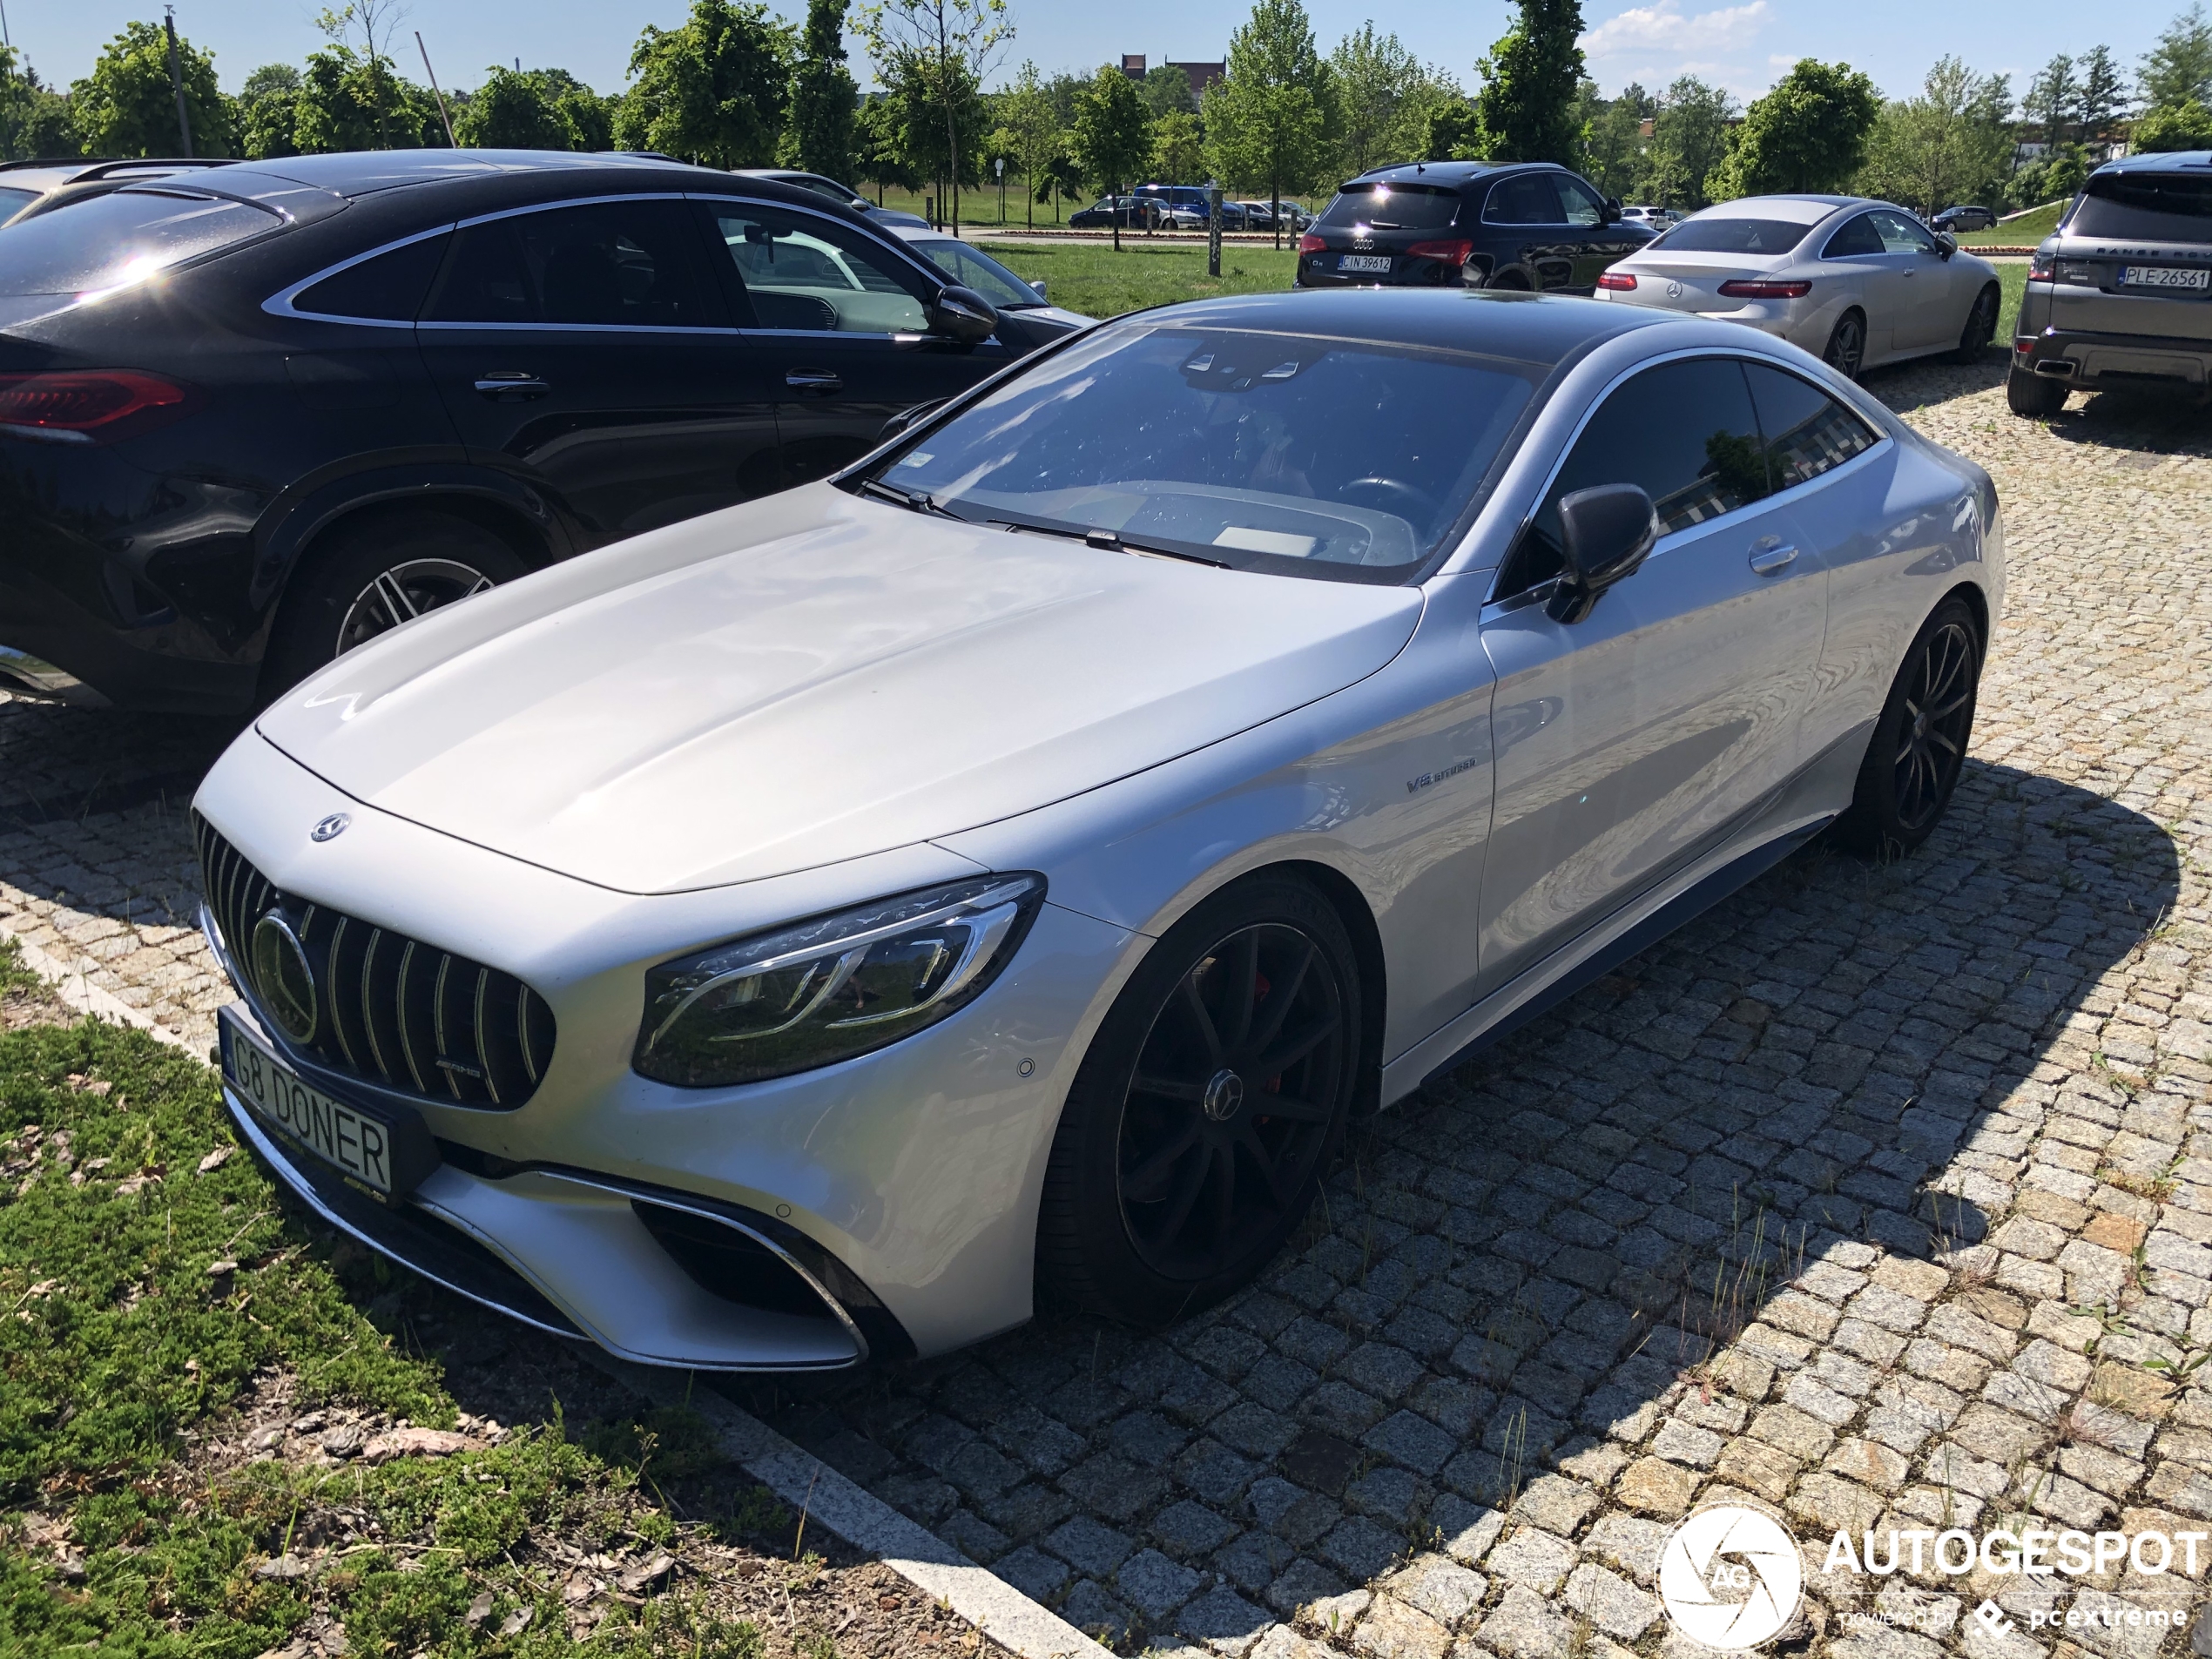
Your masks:
<svg viewBox="0 0 2212 1659"><path fill-rule="evenodd" d="M1958 787L1980 681L1973 611L1964 599L1944 599L1913 637L1874 723L1851 810L1838 823L1849 845L1902 858L1929 838Z"/></svg>

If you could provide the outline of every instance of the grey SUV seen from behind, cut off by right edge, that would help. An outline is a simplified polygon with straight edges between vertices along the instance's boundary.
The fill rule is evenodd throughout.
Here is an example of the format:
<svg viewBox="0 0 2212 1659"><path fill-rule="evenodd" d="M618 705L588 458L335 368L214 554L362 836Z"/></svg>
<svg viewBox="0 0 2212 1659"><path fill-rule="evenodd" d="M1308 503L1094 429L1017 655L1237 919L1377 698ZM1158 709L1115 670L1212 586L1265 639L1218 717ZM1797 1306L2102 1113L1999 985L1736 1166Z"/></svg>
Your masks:
<svg viewBox="0 0 2212 1659"><path fill-rule="evenodd" d="M2212 153L2088 175L2028 261L2004 396L2053 416L2070 389L2212 392Z"/></svg>

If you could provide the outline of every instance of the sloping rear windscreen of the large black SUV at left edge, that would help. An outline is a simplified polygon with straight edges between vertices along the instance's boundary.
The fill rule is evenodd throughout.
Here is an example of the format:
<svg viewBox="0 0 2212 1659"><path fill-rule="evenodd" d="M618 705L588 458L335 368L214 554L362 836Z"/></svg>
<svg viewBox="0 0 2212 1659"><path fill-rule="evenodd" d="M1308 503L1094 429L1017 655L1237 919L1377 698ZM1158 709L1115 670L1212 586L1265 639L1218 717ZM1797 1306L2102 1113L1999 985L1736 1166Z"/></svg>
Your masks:
<svg viewBox="0 0 2212 1659"><path fill-rule="evenodd" d="M0 294L91 294L283 226L243 201L137 186L86 197L7 232Z"/></svg>

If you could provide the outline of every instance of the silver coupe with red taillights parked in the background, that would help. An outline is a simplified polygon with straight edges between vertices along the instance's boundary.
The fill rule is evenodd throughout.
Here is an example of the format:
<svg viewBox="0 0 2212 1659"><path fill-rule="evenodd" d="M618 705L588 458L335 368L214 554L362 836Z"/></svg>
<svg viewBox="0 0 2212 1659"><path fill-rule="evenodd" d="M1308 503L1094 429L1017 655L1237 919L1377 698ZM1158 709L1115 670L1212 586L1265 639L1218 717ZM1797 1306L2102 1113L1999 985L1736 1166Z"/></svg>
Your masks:
<svg viewBox="0 0 2212 1659"><path fill-rule="evenodd" d="M1597 279L1599 299L1745 323L1843 376L1997 334L1997 268L1865 197L1741 197L1692 212Z"/></svg>

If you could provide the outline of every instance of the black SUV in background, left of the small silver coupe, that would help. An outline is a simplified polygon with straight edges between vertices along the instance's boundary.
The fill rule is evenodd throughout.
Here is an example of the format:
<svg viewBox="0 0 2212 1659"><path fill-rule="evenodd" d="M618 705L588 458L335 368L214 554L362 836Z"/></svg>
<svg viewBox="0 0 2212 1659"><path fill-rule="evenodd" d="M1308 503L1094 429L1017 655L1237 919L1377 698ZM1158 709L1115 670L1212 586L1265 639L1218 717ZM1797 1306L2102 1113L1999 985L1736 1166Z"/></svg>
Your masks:
<svg viewBox="0 0 2212 1659"><path fill-rule="evenodd" d="M1409 161L1340 184L1298 239L1298 288L1389 283L1588 294L1652 239L1579 173L1548 161Z"/></svg>

